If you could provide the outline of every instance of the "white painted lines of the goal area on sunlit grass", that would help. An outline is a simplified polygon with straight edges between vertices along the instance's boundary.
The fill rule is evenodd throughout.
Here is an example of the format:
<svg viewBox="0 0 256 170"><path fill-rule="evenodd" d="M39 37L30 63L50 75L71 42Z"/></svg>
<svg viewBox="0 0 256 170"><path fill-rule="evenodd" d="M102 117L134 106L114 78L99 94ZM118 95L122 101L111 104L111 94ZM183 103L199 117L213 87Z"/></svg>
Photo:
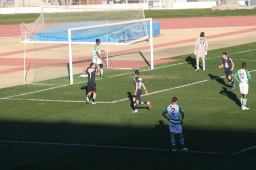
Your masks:
<svg viewBox="0 0 256 170"><path fill-rule="evenodd" d="M246 51L242 51L242 52L238 52L238 53L232 53L232 54L228 54L228 55L235 55L235 54L241 54L241 53L246 53L246 52L250 52L250 51L255 51L256 49L252 49L252 50L246 50ZM218 58L218 57L221 57L221 56L216 56L216 57L211 57L211 58L206 58L206 59L214 59L214 58ZM248 60L248 61L256 61L256 60ZM187 62L183 62L183 63L178 63L178 64L171 64L171 65L166 65L166 66L162 66L162 67L157 67L157 68L154 68L154 69L160 69L160 68L165 68L165 67L170 67L170 66L175 66L175 65L180 65L180 64L187 64ZM148 70L141 70L140 72L143 72L143 71L150 71L151 69L148 69ZM255 71L255 70L253 70ZM252 72L252 71L250 71ZM134 72L129 72L129 73L126 73L126 74L120 74L120 75L115 75L115 76L109 76L108 78L112 78L112 77L117 77L117 76L124 76L124 75L129 75L129 74L133 74ZM223 77L221 77L223 78ZM103 80L103 79L96 79L96 80ZM208 80L204 80L204 81L200 81L200 82L195 82L195 83L192 83L192 84L187 84L187 85L184 85L184 86L179 86L179 87L174 87L174 88L171 88L171 89L165 89L165 90L161 90L159 92L162 92L162 91L167 91L167 90L172 90L172 89L176 89L176 88L181 88L181 87L186 87L186 86L190 86L190 85L193 85L193 84L197 84L197 83L202 83L202 82L205 82L205 81L208 81ZM78 83L74 83L74 84L80 84L80 83L85 83L87 81L84 81L84 82L78 82ZM46 90L51 90L51 89L55 89L55 88L60 88L60 87L65 87L65 86L70 86L70 84L68 85L63 85L63 86L57 86L57 87L52 87L52 88L48 88L48 89L44 89L44 90L38 90L38 91L32 91L32 92L29 92L29 93L23 93L23 94L18 94L18 95L12 95L12 96L8 96L6 98L0 98L0 100L2 99L10 99L10 98L14 98L16 96L21 96L21 95L27 95L27 94L32 94L32 93L36 93L36 92L42 92L42 91L46 91ZM149 93L149 94L154 94L156 92L153 92L153 93ZM149 95L149 94L144 94L144 95ZM142 95L142 96L144 96ZM128 100L129 98L127 99L123 99L123 100L119 100L119 101L113 101L113 102L97 102L97 103L116 103L116 102L121 102L121 101L125 101L125 100ZM84 101L60 101L60 100L35 100L35 99L11 99L11 100L30 100L30 101L49 101L49 102L84 102Z"/></svg>

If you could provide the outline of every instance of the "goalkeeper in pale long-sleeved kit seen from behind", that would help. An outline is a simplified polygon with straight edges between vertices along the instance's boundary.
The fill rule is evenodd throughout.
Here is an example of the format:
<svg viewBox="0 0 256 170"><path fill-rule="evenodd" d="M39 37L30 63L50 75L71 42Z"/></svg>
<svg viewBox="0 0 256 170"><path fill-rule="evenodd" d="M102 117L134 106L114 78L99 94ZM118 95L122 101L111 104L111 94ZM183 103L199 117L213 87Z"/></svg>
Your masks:
<svg viewBox="0 0 256 170"><path fill-rule="evenodd" d="M199 71L199 58L202 58L203 61L203 70L205 70L205 56L207 55L208 50L208 41L205 38L205 33L200 33L200 36L195 40L194 46L194 55L196 56L196 69L195 71Z"/></svg>

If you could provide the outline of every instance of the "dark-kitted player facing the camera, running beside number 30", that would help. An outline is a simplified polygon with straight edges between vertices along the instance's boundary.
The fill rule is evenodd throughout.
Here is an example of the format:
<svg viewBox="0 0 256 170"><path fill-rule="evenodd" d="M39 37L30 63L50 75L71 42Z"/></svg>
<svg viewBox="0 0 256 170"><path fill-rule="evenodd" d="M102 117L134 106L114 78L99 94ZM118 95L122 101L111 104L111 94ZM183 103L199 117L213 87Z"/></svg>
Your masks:
<svg viewBox="0 0 256 170"><path fill-rule="evenodd" d="M219 65L219 68L222 68L224 66L224 71L226 78L228 79L228 83L230 84L231 90L234 89L235 84L232 79L232 71L234 69L234 62L232 59L228 58L227 53L222 53L223 59L221 60L221 65Z"/></svg>

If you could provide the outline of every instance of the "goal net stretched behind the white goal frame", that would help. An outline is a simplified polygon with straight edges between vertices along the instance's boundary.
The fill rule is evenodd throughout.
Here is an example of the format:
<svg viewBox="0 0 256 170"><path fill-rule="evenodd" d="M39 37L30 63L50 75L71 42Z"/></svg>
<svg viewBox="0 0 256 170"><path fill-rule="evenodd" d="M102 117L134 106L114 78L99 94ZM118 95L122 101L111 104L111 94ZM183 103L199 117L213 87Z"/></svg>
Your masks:
<svg viewBox="0 0 256 170"><path fill-rule="evenodd" d="M73 84L92 62L96 39L106 52L104 68L153 68L152 19L145 19L143 9L47 10L42 8L35 22L21 24L22 42L34 43L32 83Z"/></svg>

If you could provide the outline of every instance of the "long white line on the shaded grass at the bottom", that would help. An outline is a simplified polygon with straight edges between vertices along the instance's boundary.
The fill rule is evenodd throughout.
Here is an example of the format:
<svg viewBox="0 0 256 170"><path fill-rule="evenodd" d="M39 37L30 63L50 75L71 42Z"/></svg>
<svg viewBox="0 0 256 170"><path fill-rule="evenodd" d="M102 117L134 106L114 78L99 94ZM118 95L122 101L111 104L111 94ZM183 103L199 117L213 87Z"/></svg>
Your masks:
<svg viewBox="0 0 256 170"><path fill-rule="evenodd" d="M151 150L151 151L171 151L171 149L161 149L161 148L142 148L142 147L123 147L123 146L114 146L114 145L97 145L97 144L82 144L82 143L51 143L51 142L34 142L34 141L12 141L12 140L0 140L0 142L5 143L26 143L26 144L46 144L46 145L68 145L75 147L97 147L97 148L118 148L118 149L128 149L128 150ZM197 153L197 154L210 154L210 155L231 155L230 153L221 153L221 152L203 152L203 151L182 151L177 150L178 152L187 152L187 153Z"/></svg>

